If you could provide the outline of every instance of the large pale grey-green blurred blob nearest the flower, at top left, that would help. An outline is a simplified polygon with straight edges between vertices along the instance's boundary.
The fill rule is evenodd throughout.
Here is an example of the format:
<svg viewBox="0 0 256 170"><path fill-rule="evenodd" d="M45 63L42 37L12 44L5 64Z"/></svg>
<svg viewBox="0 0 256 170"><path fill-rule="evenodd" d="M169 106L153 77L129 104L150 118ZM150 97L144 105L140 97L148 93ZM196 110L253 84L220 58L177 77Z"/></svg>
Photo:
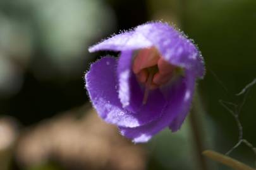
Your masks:
<svg viewBox="0 0 256 170"><path fill-rule="evenodd" d="M60 70L63 74L70 75L70 72L81 71L82 61L85 59L83 55L91 40L104 35L104 31L114 25L111 9L102 1L29 2L46 57L57 67L54 71ZM44 68L40 65L35 69L44 74Z"/></svg>

